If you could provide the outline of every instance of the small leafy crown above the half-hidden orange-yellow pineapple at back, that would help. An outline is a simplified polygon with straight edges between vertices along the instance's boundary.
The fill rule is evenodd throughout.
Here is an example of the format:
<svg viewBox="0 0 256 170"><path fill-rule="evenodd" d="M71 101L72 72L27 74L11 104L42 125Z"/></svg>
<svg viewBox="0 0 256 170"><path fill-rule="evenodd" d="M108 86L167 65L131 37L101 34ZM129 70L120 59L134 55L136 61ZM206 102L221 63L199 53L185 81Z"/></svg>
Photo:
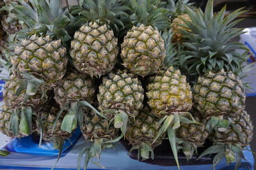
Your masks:
<svg viewBox="0 0 256 170"><path fill-rule="evenodd" d="M173 20L186 13L185 6L191 7L193 3L190 0L165 0L161 2L160 6L168 10L168 17Z"/></svg>

